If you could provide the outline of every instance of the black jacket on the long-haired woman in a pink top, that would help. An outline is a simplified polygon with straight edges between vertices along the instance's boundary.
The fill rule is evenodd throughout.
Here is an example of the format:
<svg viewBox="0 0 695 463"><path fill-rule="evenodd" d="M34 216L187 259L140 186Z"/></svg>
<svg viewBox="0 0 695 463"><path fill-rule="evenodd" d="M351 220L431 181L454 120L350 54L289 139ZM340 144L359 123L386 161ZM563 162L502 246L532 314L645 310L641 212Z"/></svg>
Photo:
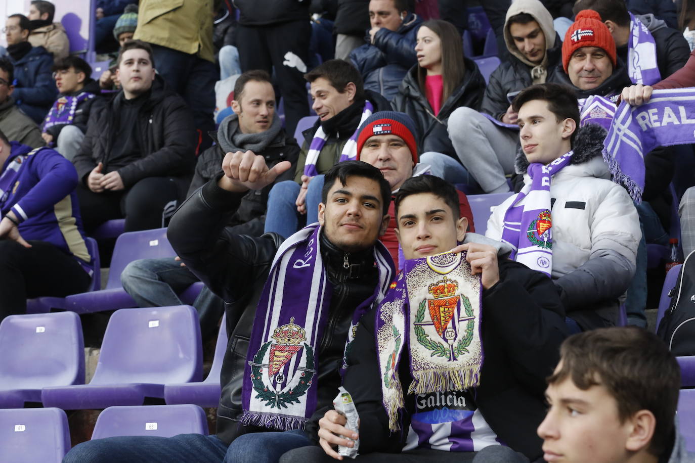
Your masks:
<svg viewBox="0 0 695 463"><path fill-rule="evenodd" d="M411 67L398 88L398 94L393 100L393 109L405 112L418 127L418 151L436 151L458 159L454 146L449 140L446 124L451 113L460 106L468 106L480 110L482 95L485 90L485 79L473 60L464 58L466 75L456 90L441 104L438 115L432 112L432 106L427 96L418 85L418 65Z"/></svg>

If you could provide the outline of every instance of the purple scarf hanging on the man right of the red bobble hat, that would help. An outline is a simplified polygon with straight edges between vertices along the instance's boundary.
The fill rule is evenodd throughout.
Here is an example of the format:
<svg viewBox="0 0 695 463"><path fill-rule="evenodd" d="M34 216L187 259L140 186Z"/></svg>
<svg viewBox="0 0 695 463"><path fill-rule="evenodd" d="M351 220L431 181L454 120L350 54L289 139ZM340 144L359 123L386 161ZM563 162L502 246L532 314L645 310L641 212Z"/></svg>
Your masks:
<svg viewBox="0 0 695 463"><path fill-rule="evenodd" d="M628 74L632 83L654 85L661 81L656 56L656 42L651 32L638 17L630 13Z"/></svg>

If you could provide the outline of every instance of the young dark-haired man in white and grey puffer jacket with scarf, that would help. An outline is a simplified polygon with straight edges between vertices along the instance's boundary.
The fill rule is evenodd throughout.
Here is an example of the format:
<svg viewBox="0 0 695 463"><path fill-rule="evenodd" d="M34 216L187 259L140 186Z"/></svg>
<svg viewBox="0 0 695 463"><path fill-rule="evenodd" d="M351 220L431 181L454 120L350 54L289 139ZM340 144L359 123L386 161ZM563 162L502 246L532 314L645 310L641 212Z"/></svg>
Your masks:
<svg viewBox="0 0 695 463"><path fill-rule="evenodd" d="M619 297L635 273L641 230L635 205L610 180L601 156L605 129L590 124L577 130L577 99L562 85L532 85L513 106L523 151L516 171L524 174L524 187L496 208L486 236L511 244L516 260L552 276L571 328L613 326ZM537 182L529 171L538 173ZM520 206L535 219L524 221Z"/></svg>

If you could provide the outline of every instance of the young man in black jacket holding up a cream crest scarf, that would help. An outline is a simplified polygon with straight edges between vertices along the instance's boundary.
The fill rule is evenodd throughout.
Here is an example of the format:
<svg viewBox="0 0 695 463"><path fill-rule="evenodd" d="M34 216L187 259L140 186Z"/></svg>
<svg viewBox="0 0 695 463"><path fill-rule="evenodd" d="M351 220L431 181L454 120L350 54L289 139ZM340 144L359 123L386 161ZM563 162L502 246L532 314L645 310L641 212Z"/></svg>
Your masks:
<svg viewBox="0 0 695 463"><path fill-rule="evenodd" d="M331 462L336 444L357 437L361 462L539 459L544 378L567 335L553 283L509 260L509 246L466 233L456 192L441 178L407 180L395 210L409 260L359 324L343 380L359 430L343 428L332 407L317 410L307 432L320 447L280 462ZM436 310L443 301L453 315Z"/></svg>

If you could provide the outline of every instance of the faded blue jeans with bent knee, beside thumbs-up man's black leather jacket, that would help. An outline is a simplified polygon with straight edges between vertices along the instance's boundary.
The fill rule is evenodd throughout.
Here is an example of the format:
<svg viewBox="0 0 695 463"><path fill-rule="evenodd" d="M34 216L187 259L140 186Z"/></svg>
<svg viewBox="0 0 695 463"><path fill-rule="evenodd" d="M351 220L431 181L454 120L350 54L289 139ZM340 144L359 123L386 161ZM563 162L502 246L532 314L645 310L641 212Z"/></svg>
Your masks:
<svg viewBox="0 0 695 463"><path fill-rule="evenodd" d="M133 260L121 273L121 284L138 307L182 305L177 294L197 281L198 278L174 258ZM193 301L193 307L198 312L202 339L212 339L224 312L222 299L204 287Z"/></svg>

